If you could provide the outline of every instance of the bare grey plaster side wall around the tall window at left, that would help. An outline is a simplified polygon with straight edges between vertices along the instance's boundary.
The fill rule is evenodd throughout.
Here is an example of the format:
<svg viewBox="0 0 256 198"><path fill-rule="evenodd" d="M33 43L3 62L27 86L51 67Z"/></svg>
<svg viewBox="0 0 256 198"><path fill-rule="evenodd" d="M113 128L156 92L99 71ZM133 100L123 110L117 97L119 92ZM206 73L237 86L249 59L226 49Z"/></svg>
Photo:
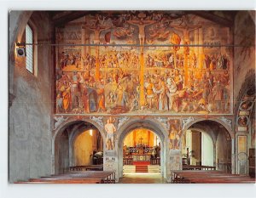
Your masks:
<svg viewBox="0 0 256 198"><path fill-rule="evenodd" d="M25 12L26 13L26 12ZM19 41L29 14L15 20L19 13L11 12L11 41ZM38 28L38 40L51 39L52 29L46 13L32 14ZM15 25L15 26L14 26ZM24 26L23 26L24 27ZM22 29L22 28L21 28ZM24 29L23 29L24 30ZM52 65L51 48L38 48L38 76L26 71L25 58L10 52L10 93L13 100L9 107L9 182L18 179L38 178L51 173L51 108Z"/></svg>

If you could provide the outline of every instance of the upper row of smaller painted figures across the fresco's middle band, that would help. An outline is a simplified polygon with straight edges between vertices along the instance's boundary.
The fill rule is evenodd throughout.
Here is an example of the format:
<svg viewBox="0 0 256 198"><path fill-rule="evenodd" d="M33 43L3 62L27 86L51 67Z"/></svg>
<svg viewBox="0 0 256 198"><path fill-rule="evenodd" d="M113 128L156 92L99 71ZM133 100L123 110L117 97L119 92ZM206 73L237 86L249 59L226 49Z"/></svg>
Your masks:
<svg viewBox="0 0 256 198"><path fill-rule="evenodd" d="M139 69L140 60L137 50L106 52L99 55L100 68L130 68ZM175 56L175 58L174 58ZM192 69L199 67L198 57L195 53L189 55L188 65ZM184 57L183 54L148 53L145 57L147 68L160 67L160 68L177 68L183 69ZM61 69L66 68L68 65L75 65L78 70L90 71L96 68L96 56L84 54L82 56L79 52L60 54ZM206 70L228 70L230 67L230 60L225 54L205 54L203 57L202 69Z"/></svg>

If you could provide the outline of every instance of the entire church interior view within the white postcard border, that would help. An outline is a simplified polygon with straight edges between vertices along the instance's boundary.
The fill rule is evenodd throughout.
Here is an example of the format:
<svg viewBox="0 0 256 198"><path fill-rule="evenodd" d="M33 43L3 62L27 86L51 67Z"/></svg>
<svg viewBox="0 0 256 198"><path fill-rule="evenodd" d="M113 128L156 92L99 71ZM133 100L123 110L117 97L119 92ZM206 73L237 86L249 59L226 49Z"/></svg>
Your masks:
<svg viewBox="0 0 256 198"><path fill-rule="evenodd" d="M9 183L255 183L255 11L11 11Z"/></svg>

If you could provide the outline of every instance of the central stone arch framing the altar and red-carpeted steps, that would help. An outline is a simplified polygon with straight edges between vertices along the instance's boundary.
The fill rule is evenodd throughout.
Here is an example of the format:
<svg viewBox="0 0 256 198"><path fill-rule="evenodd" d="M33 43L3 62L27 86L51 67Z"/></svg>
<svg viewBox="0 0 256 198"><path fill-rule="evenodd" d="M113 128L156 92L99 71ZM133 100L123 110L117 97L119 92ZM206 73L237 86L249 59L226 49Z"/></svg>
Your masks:
<svg viewBox="0 0 256 198"><path fill-rule="evenodd" d="M125 137L132 130L137 128L145 128L150 131L153 131L159 138L161 143L160 150L160 167L161 174L163 178L166 178L167 175L167 151L168 151L168 142L167 142L167 129L161 125L160 122L155 120L147 119L147 120L137 120L132 119L129 122L125 122L125 124L119 128L117 139L118 139L118 158L119 158L119 178L123 177L123 143Z"/></svg>

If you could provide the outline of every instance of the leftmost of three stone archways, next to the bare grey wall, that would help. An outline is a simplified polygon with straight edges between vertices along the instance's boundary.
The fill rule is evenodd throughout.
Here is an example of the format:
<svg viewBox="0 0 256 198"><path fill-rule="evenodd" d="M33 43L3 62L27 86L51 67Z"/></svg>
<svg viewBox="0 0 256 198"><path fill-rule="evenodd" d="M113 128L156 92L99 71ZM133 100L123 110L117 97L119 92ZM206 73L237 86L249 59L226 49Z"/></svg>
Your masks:
<svg viewBox="0 0 256 198"><path fill-rule="evenodd" d="M83 126L82 126L83 125ZM79 127L80 126L80 127ZM82 126L82 127L81 127ZM73 166L73 141L78 137L80 133L83 133L85 129L93 128L97 130L101 136L103 145L105 144L105 134L102 130L102 127L99 126L96 122L92 122L91 120L87 119L76 119L76 118L69 118L65 122L62 122L59 127L57 127L53 133L52 137L52 173L59 173L59 159L60 159L60 143L61 139L63 140L63 134L67 136L65 140L65 155L68 156L68 160L66 159L66 167ZM104 146L103 146L104 151ZM62 150L63 152L63 150ZM68 164L68 165L67 165Z"/></svg>

